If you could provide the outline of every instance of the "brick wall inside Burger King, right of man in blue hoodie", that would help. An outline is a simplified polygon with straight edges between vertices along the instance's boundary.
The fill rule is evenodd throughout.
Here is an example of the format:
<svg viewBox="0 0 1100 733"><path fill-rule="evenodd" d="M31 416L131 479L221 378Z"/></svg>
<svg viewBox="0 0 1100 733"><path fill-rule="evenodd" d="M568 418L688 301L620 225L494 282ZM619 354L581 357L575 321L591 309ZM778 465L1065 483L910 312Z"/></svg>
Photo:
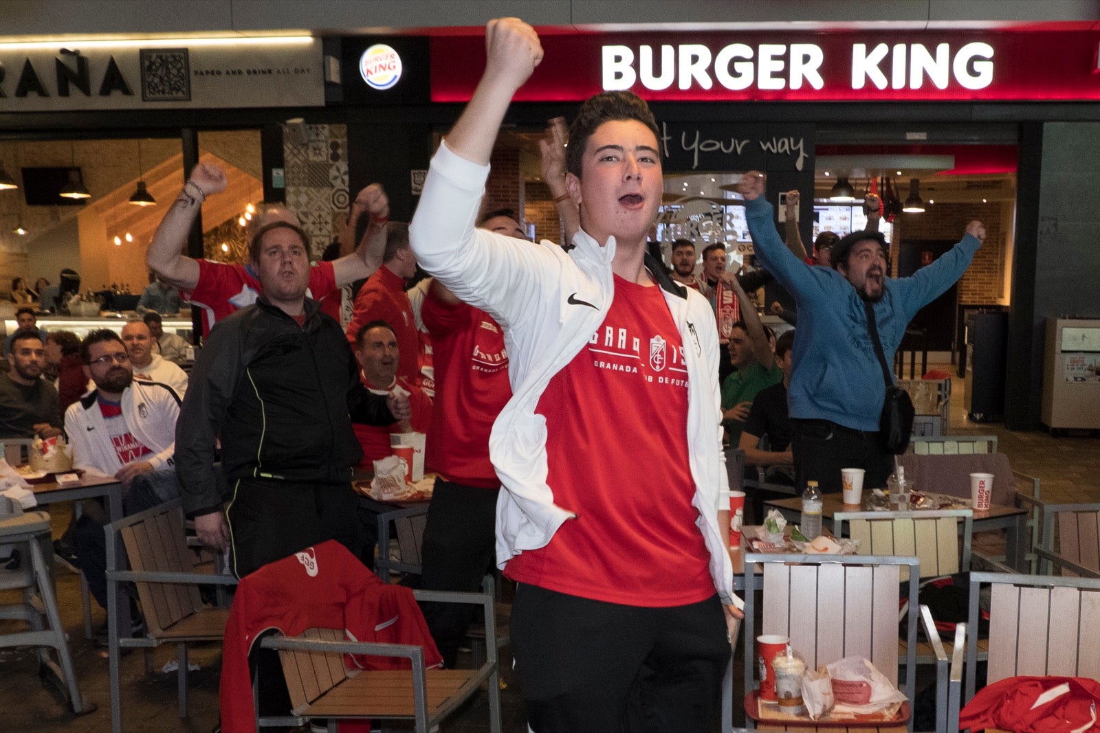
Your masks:
<svg viewBox="0 0 1100 733"><path fill-rule="evenodd" d="M1008 298L1005 273L1011 262L1011 207L999 201L990 203L936 203L923 214L903 213L895 222L902 245L911 240L950 240L963 236L968 222L977 219L986 225L986 244L959 280L959 303L996 303ZM897 245L891 253L898 262Z"/></svg>

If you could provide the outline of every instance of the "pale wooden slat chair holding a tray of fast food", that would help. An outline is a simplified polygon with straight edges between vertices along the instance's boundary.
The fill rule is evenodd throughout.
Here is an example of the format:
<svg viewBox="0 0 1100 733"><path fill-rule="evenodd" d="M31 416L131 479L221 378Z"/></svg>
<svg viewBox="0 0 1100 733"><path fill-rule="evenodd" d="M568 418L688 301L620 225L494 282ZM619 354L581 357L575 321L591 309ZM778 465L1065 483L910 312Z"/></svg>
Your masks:
<svg viewBox="0 0 1100 733"><path fill-rule="evenodd" d="M791 647L805 657L806 668L843 657L862 656L871 660L893 685L898 685L898 601L900 570L910 571L909 592L916 598L920 563L916 557L861 555L772 555L745 556L746 587L757 587L758 565L762 567L762 633L791 640ZM755 593L745 593L745 624L755 629ZM913 704L916 690L916 613L908 617L909 652L902 691ZM745 687L758 687L756 634L745 633ZM746 721L752 726L751 719ZM757 724L756 730L813 730L805 725ZM822 729L826 730L826 729ZM829 731L843 728L829 726ZM857 729L850 729L857 730ZM906 731L906 725L858 730Z"/></svg>

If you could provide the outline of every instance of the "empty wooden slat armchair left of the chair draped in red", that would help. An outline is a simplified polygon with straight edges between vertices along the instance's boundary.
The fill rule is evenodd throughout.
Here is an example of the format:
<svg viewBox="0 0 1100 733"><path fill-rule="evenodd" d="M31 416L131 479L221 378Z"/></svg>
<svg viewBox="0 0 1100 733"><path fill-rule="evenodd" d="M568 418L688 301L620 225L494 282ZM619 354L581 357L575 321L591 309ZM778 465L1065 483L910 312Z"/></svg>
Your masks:
<svg viewBox="0 0 1100 733"><path fill-rule="evenodd" d="M145 670L151 671L151 651L162 644L175 644L179 669L177 689L179 717L187 717L187 644L221 643L226 631L228 608L202 604L200 585L235 586L237 578L227 575L196 573L196 558L187 546L182 500L125 517L105 527L107 533L107 626L111 674L111 724L118 733L122 728L119 656L122 648L145 649ZM119 557L116 536L121 535L127 557ZM129 560L130 569L124 569ZM138 588L145 617L144 636L120 638L118 618L130 615L130 609L119 609L117 584L133 582Z"/></svg>

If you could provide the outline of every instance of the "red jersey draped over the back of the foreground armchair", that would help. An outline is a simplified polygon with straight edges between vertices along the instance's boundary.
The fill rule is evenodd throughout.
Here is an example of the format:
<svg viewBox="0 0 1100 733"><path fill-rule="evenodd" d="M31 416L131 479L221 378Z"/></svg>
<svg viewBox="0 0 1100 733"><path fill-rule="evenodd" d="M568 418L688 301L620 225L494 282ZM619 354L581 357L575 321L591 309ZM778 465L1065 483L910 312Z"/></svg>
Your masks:
<svg viewBox="0 0 1100 733"><path fill-rule="evenodd" d="M349 641L415 644L424 647L427 667L442 664L413 591L383 582L343 545L329 540L241 578L226 622L222 731L255 730L249 652L256 637L272 629L297 636L312 628L343 629ZM363 669L409 668L407 659L376 656L354 657L345 664Z"/></svg>

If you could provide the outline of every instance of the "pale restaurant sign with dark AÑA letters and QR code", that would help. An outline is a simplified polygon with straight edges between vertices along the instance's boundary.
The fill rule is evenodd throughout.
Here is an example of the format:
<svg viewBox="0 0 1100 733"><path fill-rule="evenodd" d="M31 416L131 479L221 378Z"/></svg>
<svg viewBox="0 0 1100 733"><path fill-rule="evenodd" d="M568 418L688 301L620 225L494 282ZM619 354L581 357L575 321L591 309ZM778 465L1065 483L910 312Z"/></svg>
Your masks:
<svg viewBox="0 0 1100 733"><path fill-rule="evenodd" d="M0 46L0 112L323 107L306 36Z"/></svg>

